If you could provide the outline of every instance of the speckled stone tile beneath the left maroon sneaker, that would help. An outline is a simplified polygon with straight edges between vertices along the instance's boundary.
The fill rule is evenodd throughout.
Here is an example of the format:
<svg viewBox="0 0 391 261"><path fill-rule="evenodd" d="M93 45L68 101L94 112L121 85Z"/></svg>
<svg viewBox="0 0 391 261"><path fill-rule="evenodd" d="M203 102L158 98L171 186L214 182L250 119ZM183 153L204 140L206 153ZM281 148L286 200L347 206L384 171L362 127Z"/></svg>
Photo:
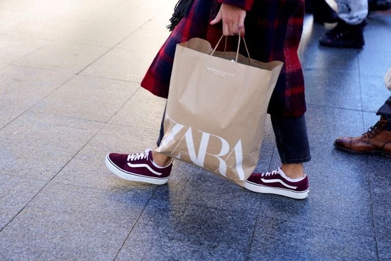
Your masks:
<svg viewBox="0 0 391 261"><path fill-rule="evenodd" d="M157 131L107 124L88 144L56 175L54 182L128 193L149 190L156 185L122 180L105 165L106 154L141 153L157 139Z"/></svg>

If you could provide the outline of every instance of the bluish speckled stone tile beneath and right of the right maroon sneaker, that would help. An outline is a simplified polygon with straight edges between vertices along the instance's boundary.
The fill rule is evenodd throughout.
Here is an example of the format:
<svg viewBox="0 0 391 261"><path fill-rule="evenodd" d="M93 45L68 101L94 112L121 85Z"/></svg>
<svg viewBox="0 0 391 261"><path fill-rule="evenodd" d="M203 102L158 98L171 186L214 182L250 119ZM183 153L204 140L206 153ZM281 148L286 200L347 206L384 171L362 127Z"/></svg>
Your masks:
<svg viewBox="0 0 391 261"><path fill-rule="evenodd" d="M296 200L262 194L259 214L374 237L366 158L337 151L332 144L311 149L312 160L304 163L308 197ZM272 169L279 165L275 155Z"/></svg>

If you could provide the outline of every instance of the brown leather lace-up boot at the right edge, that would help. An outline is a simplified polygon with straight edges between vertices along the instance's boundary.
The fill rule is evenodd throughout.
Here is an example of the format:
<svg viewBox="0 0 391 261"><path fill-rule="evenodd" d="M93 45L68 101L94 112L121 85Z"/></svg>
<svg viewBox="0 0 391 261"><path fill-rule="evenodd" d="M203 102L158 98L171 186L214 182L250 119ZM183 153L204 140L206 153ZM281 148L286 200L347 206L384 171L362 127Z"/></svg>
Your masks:
<svg viewBox="0 0 391 261"><path fill-rule="evenodd" d="M387 120L380 118L361 137L338 137L334 146L349 153L382 154L391 157L391 131L385 130Z"/></svg>

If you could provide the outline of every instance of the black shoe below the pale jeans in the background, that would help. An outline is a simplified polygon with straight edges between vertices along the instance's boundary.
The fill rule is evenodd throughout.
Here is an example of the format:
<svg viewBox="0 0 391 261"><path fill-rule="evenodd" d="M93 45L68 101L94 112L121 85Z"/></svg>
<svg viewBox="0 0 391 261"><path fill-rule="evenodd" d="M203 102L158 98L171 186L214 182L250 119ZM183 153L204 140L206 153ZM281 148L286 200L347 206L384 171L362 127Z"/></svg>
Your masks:
<svg viewBox="0 0 391 261"><path fill-rule="evenodd" d="M361 24L346 24L340 20L333 29L319 39L321 46L336 48L362 48L365 44L363 30L366 21Z"/></svg>

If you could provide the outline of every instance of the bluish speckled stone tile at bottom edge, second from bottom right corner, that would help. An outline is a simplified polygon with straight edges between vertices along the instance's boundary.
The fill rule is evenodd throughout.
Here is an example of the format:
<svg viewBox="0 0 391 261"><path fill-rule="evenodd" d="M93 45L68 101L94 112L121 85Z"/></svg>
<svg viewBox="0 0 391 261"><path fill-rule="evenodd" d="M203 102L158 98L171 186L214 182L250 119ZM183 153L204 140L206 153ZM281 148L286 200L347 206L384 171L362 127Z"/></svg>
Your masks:
<svg viewBox="0 0 391 261"><path fill-rule="evenodd" d="M262 217L249 256L249 260L376 259L374 237Z"/></svg>

